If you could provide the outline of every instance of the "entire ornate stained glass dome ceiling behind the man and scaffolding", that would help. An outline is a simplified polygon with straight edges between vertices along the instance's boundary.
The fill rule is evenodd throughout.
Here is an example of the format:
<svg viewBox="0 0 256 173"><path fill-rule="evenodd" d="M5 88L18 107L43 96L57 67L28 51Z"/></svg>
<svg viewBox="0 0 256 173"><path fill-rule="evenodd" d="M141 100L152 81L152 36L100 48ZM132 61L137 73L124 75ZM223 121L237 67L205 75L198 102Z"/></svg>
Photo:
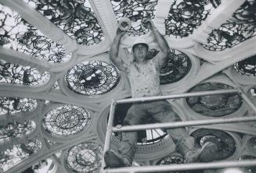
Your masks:
<svg viewBox="0 0 256 173"><path fill-rule="evenodd" d="M149 44L150 59L162 51L158 34L170 47L159 74L162 95L243 90L170 99L175 121L255 115L255 7L254 0L0 0L0 172L102 173L110 104L132 97L120 67L133 61L138 38ZM110 47L124 17L131 28L118 42L116 63ZM117 104L114 125L124 125L131 105ZM186 129L196 147L215 143L215 161L256 157L254 122ZM136 134L133 166L185 161L166 129ZM112 134L111 150L122 137Z"/></svg>

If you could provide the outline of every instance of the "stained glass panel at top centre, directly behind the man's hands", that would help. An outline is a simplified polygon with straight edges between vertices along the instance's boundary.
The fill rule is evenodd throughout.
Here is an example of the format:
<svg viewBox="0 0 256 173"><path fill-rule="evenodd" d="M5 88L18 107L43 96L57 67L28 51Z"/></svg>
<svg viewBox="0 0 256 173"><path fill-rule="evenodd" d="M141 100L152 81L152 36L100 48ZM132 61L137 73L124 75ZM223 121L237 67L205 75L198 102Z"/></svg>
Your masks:
<svg viewBox="0 0 256 173"><path fill-rule="evenodd" d="M139 36L149 32L141 24L142 19L153 19L155 6L158 0L111 0L114 13L119 21L123 17L128 17L132 21L132 28L127 34Z"/></svg>

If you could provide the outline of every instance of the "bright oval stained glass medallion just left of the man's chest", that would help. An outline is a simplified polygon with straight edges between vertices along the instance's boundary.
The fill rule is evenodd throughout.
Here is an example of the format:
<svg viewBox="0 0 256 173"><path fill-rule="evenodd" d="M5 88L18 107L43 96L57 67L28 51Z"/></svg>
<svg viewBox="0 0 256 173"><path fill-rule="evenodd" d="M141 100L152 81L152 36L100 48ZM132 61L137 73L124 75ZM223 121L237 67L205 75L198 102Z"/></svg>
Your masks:
<svg viewBox="0 0 256 173"><path fill-rule="evenodd" d="M78 94L105 94L119 81L114 65L106 62L82 62L67 72L67 85Z"/></svg>

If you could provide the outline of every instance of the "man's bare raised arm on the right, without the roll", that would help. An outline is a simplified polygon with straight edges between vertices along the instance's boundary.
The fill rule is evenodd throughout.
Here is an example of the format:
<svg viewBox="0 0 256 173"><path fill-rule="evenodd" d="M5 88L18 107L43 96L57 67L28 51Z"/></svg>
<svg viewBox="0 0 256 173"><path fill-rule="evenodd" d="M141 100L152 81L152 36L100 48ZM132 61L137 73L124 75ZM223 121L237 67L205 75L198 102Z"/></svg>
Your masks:
<svg viewBox="0 0 256 173"><path fill-rule="evenodd" d="M153 21L151 19L143 19L142 23L146 26L146 28L150 29L153 36L155 37L157 44L160 48L160 65L164 65L164 63L168 59L168 53L170 51L168 42L165 40L164 36L160 34L160 32L157 30L157 27L153 24Z"/></svg>

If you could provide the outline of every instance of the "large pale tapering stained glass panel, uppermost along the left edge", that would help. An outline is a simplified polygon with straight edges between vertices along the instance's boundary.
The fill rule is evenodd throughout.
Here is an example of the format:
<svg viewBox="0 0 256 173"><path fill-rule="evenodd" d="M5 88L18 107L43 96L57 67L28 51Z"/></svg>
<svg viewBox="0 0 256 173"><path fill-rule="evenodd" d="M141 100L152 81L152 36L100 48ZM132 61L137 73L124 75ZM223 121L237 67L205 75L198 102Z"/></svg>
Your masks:
<svg viewBox="0 0 256 173"><path fill-rule="evenodd" d="M48 62L67 62L63 46L53 42L16 12L0 4L0 45Z"/></svg>

